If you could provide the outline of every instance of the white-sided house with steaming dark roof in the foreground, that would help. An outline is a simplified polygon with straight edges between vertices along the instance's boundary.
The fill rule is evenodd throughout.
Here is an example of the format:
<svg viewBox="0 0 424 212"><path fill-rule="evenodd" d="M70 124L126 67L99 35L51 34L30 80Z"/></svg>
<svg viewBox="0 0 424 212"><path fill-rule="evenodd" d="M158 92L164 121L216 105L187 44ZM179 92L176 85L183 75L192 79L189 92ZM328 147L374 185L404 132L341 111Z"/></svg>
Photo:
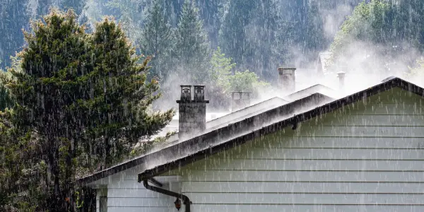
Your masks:
<svg viewBox="0 0 424 212"><path fill-rule="evenodd" d="M77 183L109 212L424 211L423 95L401 78L313 93Z"/></svg>

